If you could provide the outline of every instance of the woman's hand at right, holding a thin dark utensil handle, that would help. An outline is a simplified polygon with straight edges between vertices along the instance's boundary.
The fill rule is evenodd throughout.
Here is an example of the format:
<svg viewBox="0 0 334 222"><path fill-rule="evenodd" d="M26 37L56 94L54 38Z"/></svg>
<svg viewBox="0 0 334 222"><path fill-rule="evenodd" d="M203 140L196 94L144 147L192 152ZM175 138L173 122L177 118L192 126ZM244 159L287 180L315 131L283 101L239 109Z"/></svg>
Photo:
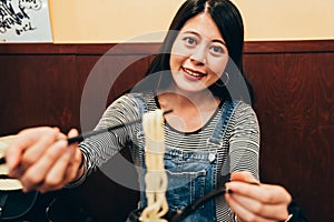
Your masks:
<svg viewBox="0 0 334 222"><path fill-rule="evenodd" d="M257 183L257 184L252 184ZM225 198L239 222L285 221L291 194L281 185L258 183L249 172L232 174Z"/></svg>

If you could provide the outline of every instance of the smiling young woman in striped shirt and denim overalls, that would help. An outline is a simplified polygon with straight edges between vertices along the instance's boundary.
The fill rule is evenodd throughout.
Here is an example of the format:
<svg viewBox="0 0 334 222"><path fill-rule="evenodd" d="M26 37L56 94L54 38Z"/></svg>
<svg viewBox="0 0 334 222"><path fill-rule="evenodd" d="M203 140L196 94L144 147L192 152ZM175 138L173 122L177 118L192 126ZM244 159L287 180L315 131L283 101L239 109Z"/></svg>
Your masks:
<svg viewBox="0 0 334 222"><path fill-rule="evenodd" d="M127 123L156 109L165 117L167 202L177 212L205 193L228 186L184 221L284 221L291 195L278 185L259 184L259 128L252 88L243 73L244 27L228 0L187 0L176 13L147 78L108 107L96 130ZM67 137L77 132L70 131ZM58 129L19 133L7 150L10 175L24 191L42 192L80 184L124 147L139 171L145 208L141 123L68 145ZM248 182L256 182L257 185Z"/></svg>

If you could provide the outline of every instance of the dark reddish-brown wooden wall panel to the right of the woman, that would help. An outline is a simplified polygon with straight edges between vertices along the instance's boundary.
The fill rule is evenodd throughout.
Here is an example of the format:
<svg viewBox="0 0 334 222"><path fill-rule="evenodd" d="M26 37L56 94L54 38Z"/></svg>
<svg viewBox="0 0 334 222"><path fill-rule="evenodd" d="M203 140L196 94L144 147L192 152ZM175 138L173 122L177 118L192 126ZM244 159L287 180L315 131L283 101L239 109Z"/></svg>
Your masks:
<svg viewBox="0 0 334 222"><path fill-rule="evenodd" d="M262 180L284 184L311 221L333 220L333 61L330 52L245 57L262 129Z"/></svg>

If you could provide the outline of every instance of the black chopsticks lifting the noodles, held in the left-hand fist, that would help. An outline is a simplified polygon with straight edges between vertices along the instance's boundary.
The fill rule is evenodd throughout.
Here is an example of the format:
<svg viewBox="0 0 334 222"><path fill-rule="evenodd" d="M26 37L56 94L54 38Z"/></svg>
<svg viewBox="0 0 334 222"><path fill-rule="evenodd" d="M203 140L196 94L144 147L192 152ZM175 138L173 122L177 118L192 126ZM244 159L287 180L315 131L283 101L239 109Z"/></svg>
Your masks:
<svg viewBox="0 0 334 222"><path fill-rule="evenodd" d="M173 112L173 110L166 110L166 111L164 111L163 114L165 115L165 114L168 114L170 112ZM111 127L106 128L106 129L95 130L95 131L90 131L90 132L79 134L79 135L73 137L73 138L68 138L67 143L68 144L73 144L73 143L77 143L77 142L79 143L79 142L82 142L86 138L90 138L90 137L98 135L98 134L101 134L101 133L110 132L110 131L119 129L119 128L131 125L131 124L141 122L141 120L143 119L139 118L137 120L132 120L132 121L129 121L129 122L124 123L124 124L111 125ZM3 164L3 163L6 163L6 158L4 157L0 158L0 164Z"/></svg>

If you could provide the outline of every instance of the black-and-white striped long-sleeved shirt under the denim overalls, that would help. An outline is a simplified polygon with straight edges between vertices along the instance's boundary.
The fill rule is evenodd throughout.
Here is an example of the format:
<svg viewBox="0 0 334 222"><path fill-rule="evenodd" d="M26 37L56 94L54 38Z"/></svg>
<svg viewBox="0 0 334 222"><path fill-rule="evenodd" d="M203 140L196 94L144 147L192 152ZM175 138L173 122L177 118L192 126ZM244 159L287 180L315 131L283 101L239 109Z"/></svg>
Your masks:
<svg viewBox="0 0 334 222"><path fill-rule="evenodd" d="M140 94L139 97L144 98L148 111L159 109L153 93ZM222 111L223 109L219 107L209 121L195 132L180 132L166 124L166 145L185 150L206 149L207 139L213 133ZM141 118L141 114L138 100L135 99L134 94L125 94L107 108L96 130L137 120ZM137 138L138 124L127 125L112 132L88 138L80 143L79 147L86 157L86 175L96 167L107 162L129 142L139 144L140 141ZM218 185L224 185L226 178L228 180L228 175L235 171L246 170L258 179L259 127L257 117L250 105L244 102L237 104L220 144L222 148L218 149ZM136 153L136 151L132 153ZM138 155L134 154L135 162L136 158ZM225 181L223 180L224 178ZM217 221L232 221L230 209L226 204L224 196L218 198L216 204Z"/></svg>

